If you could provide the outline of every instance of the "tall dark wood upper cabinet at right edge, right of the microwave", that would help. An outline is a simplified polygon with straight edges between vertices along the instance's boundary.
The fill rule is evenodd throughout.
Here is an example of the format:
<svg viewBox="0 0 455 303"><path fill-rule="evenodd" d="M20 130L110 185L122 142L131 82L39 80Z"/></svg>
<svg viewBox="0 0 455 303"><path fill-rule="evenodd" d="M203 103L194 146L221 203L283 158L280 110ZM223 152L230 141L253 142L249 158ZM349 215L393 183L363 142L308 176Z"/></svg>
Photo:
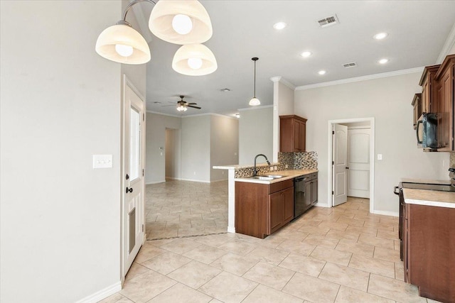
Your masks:
<svg viewBox="0 0 455 303"><path fill-rule="evenodd" d="M454 73L455 55L442 62L436 74L438 100L438 133L441 148L438 151L454 151Z"/></svg>

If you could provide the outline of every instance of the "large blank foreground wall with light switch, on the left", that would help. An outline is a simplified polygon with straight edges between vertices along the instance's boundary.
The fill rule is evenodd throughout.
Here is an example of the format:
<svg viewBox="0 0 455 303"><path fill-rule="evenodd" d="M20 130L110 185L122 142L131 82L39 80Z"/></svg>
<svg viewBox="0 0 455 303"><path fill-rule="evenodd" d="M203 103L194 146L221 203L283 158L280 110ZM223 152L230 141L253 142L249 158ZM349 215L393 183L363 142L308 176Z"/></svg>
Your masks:
<svg viewBox="0 0 455 303"><path fill-rule="evenodd" d="M122 2L0 5L0 302L77 302L120 286L122 71L95 42Z"/></svg>

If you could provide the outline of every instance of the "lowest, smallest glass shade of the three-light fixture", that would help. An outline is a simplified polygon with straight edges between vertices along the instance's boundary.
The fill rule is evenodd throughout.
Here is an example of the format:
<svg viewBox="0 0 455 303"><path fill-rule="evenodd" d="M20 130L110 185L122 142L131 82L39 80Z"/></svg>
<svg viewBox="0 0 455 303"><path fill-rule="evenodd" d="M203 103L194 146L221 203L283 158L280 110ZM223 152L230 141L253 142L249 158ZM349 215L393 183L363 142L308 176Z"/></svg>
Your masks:
<svg viewBox="0 0 455 303"><path fill-rule="evenodd" d="M163 1L163 0L160 0ZM203 76L218 68L215 55L203 44L182 45L173 56L172 68L188 76Z"/></svg>

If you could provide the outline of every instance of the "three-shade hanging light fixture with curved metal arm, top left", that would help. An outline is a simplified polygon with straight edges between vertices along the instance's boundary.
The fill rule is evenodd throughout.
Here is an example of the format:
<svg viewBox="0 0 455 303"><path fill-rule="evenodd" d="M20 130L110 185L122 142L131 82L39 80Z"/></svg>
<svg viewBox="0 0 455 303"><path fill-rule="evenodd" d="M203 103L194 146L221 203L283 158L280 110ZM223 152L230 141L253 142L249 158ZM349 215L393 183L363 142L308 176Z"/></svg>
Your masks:
<svg viewBox="0 0 455 303"><path fill-rule="evenodd" d="M95 50L107 60L124 64L144 64L151 59L144 37L126 21L127 13L139 2L154 4L149 29L168 43L183 45L174 55L173 70L183 75L208 75L217 70L215 55L204 43L213 35L210 16L197 0L134 0L125 9L123 19L98 36ZM187 48L184 46L188 45ZM174 63L175 62L175 63ZM174 66L175 64L175 66Z"/></svg>

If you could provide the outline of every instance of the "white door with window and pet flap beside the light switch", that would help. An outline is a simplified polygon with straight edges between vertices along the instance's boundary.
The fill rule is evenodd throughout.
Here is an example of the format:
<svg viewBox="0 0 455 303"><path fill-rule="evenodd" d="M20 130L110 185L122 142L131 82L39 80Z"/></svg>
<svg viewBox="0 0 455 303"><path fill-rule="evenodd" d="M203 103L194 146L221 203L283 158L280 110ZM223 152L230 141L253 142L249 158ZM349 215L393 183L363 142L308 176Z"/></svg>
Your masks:
<svg viewBox="0 0 455 303"><path fill-rule="evenodd" d="M144 101L124 78L122 255L123 277L127 275L144 242Z"/></svg>

